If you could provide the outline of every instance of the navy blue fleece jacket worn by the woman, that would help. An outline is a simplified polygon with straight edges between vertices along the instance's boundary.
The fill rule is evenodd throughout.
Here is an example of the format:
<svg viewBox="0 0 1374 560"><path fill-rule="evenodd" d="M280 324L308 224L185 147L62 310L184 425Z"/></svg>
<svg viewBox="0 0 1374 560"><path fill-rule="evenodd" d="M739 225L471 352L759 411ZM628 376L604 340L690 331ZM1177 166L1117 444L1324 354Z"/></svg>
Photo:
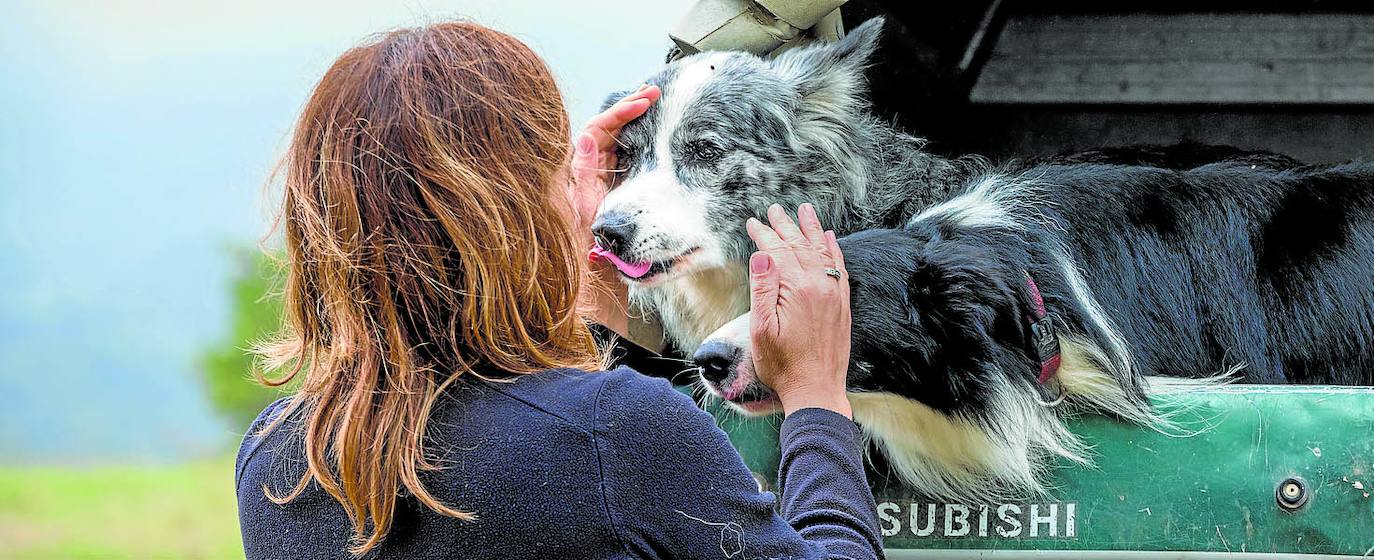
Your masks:
<svg viewBox="0 0 1374 560"><path fill-rule="evenodd" d="M312 485L276 505L304 469L300 419L239 449L243 549L254 559L348 557L342 508ZM434 408L430 493L467 523L403 497L371 559L874 559L878 513L853 421L802 409L782 424L780 508L709 415L629 369L550 371L471 382Z"/></svg>

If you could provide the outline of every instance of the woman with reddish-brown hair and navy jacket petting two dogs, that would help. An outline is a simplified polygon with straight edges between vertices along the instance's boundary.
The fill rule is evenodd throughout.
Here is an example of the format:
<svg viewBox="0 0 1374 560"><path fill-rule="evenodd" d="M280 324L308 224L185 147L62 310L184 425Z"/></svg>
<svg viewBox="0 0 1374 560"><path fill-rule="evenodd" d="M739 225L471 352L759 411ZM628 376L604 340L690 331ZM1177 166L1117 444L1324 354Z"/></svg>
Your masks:
<svg viewBox="0 0 1374 560"><path fill-rule="evenodd" d="M614 280L581 280L587 221L616 132L658 95L570 158L554 80L510 36L401 30L330 67L284 161L287 317L261 353L271 384L301 384L239 450L249 559L882 555L844 394L848 283L826 273L844 261L809 206L749 224L782 515L687 397L595 372L578 302L627 320Z"/></svg>

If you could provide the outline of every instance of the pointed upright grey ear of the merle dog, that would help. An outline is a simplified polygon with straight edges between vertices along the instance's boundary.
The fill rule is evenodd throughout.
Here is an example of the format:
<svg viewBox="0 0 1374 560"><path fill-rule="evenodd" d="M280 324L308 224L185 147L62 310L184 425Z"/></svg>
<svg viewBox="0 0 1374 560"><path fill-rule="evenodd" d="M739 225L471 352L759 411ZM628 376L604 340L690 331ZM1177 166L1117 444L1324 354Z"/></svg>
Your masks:
<svg viewBox="0 0 1374 560"><path fill-rule="evenodd" d="M872 18L840 41L785 51L772 66L797 86L804 104L831 111L851 108L864 93L863 70L878 48L882 26L883 18Z"/></svg>

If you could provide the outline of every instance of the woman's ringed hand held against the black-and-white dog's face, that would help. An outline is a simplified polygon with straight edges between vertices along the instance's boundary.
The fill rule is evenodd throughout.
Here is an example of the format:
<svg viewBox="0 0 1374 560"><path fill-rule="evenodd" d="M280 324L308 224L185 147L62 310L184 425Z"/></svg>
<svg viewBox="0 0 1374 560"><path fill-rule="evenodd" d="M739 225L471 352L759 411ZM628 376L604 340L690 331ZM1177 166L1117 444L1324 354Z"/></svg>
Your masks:
<svg viewBox="0 0 1374 560"><path fill-rule="evenodd" d="M774 205L768 221L746 224L758 246L749 258L754 371L785 415L824 408L853 417L845 395L849 275L835 233L820 226L811 205L797 209L796 224Z"/></svg>

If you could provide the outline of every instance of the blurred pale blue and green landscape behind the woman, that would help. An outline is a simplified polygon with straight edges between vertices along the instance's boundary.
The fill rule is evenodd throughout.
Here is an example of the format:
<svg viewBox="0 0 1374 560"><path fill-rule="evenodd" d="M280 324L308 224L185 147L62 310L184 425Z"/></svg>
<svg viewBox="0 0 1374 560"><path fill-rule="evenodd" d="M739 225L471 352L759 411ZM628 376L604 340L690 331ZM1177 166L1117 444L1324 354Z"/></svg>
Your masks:
<svg viewBox="0 0 1374 560"><path fill-rule="evenodd" d="M580 124L687 5L0 0L0 559L242 557L268 176L339 54L470 18L545 56Z"/></svg>

